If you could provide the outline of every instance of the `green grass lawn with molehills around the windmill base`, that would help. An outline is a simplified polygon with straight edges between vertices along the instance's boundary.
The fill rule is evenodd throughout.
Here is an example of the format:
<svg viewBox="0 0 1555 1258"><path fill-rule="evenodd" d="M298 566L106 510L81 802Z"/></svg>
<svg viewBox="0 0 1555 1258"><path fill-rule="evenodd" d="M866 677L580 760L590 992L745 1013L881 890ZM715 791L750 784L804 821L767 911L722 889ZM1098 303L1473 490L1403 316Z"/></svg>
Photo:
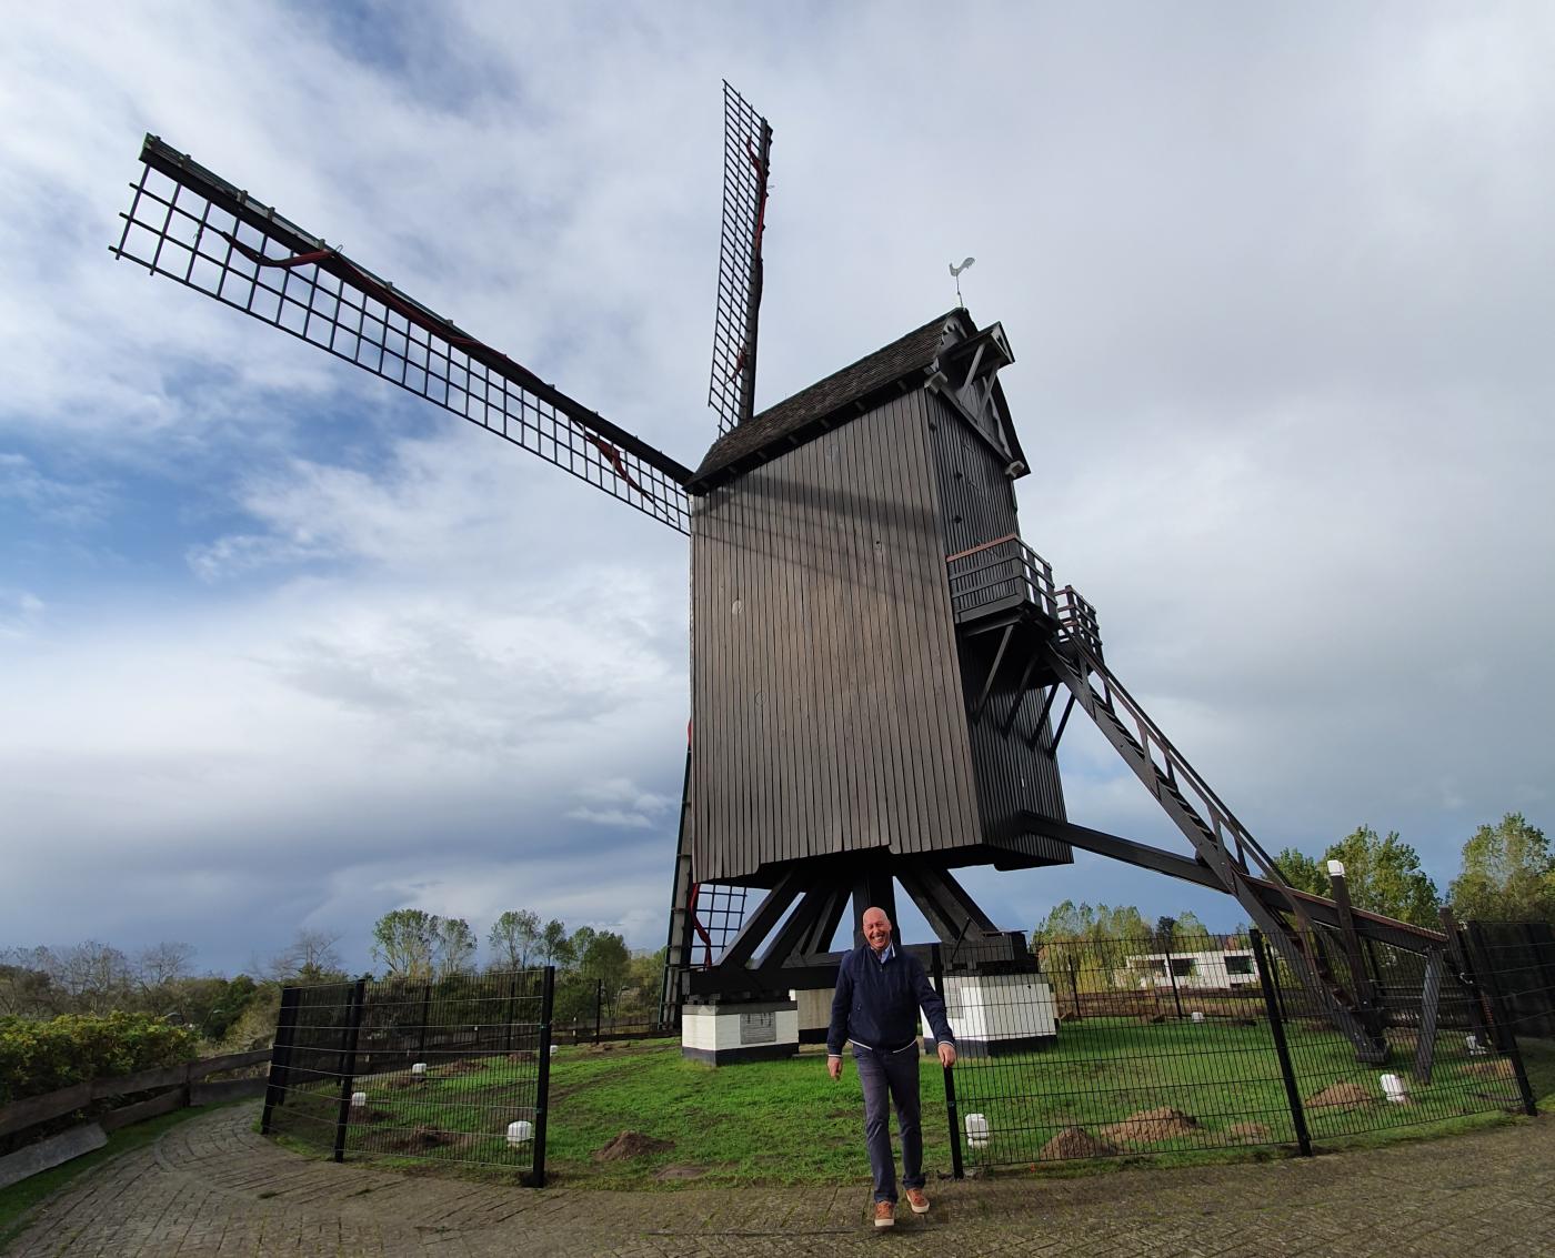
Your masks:
<svg viewBox="0 0 1555 1258"><path fill-rule="evenodd" d="M1555 1047L1525 1042L1536 1095L1555 1093ZM1403 1047L1401 1047L1403 1048ZM1487 1075L1487 1059L1468 1059L1445 1042L1429 1087L1409 1084L1412 1102L1381 1099L1378 1075L1409 1075L1409 1051L1386 1067L1358 1065L1337 1036L1292 1034L1300 1093L1311 1099L1323 1089L1353 1084L1365 1099L1350 1107L1311 1107L1308 1124L1320 1149L1375 1146L1393 1140L1440 1135L1505 1120L1516 1099L1508 1076ZM403 1076L359 1079L369 1093L372 1121L355 1124L348 1152L389 1148L392 1162L426 1169L443 1162L488 1163L476 1174L516 1180L502 1140L505 1123L527 1116L515 1106L532 1104L527 1090L532 1062L504 1057L468 1062L439 1071L418 1087ZM1236 1081L1222 1082L1227 1075ZM1107 1138L1123 1157L1073 1162L1042 1160L1040 1169L1076 1169L1260 1160L1294 1152L1278 1059L1266 1026L1165 1023L1141 1026L1129 1019L1085 1019L1065 1023L1062 1040L1048 1050L966 1062L955 1071L961 1115L983 1112L995 1129L987 1151L967 1149L967 1165L1031 1168L1045 1141L1064 1127L1084 1127ZM526 1082L529 1081L529 1082ZM863 1095L852 1061L840 1082L827 1078L819 1050L778 1062L714 1070L684 1061L673 1042L564 1047L552 1061L547 1141L550 1183L591 1188L650 1188L695 1183L865 1182ZM941 1071L925 1065L925 1165L950 1168L950 1140ZM285 1110L286 1127L328 1144L336 1113L334 1093L295 1098ZM1110 1137L1106 1129L1132 1115L1171 1106L1196 1124L1177 1135L1134 1132ZM1213 1110L1211 1110L1213 1106ZM1253 1123L1256 1127L1239 1124ZM415 1149L414 1132L446 1143ZM597 1162L594 1152L624 1130L670 1141L661 1152L620 1162ZM420 1154L411 1157L411 1154ZM508 1163L508 1169L498 1169ZM678 1179L694 1169L695 1176ZM664 1179L661 1179L664 1176Z"/></svg>

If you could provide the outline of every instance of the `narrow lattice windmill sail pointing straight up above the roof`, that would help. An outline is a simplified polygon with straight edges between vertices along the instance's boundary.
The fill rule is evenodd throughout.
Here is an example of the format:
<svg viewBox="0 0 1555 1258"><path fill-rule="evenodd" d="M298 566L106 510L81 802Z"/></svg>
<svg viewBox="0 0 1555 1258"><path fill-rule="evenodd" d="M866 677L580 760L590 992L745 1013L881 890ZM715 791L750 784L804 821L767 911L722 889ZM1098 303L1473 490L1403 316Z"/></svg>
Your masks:
<svg viewBox="0 0 1555 1258"><path fill-rule="evenodd" d="M728 82L723 84L723 238L718 244L718 306L712 323L708 406L718 432L751 417L756 400L756 325L762 305L762 233L773 129Z"/></svg>

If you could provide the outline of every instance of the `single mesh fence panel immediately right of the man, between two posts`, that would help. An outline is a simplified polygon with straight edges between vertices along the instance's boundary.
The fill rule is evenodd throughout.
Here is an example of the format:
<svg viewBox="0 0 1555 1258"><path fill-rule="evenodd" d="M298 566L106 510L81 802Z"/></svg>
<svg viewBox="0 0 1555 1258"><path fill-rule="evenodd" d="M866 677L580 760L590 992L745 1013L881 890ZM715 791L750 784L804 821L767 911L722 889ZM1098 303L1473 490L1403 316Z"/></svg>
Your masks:
<svg viewBox="0 0 1555 1258"><path fill-rule="evenodd" d="M1295 1140L1247 941L1039 941L945 980L970 1166Z"/></svg>

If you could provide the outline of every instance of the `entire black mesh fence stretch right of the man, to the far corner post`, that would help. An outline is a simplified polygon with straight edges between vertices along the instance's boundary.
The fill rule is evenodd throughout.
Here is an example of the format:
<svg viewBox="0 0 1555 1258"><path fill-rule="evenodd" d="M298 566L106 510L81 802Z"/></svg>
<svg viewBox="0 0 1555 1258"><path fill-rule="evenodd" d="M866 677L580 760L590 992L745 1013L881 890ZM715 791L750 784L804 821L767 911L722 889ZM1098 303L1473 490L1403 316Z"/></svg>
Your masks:
<svg viewBox="0 0 1555 1258"><path fill-rule="evenodd" d="M1309 1152L1362 1132L1533 1112L1494 989L1448 945L1368 944L1358 1017L1336 1017L1256 931L1176 947L1045 941L1037 955L1040 973L936 977L961 1045L945 1073L956 1171L1228 1146Z"/></svg>

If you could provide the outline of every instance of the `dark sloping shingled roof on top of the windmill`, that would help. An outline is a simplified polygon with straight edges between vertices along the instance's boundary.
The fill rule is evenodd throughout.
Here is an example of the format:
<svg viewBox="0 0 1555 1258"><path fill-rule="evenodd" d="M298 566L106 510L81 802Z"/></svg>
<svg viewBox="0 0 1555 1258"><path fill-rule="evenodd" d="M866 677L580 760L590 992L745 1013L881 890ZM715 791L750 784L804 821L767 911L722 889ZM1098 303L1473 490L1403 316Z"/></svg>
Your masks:
<svg viewBox="0 0 1555 1258"><path fill-rule="evenodd" d="M922 375L939 358L947 341L961 341L975 331L972 316L964 309L952 309L851 367L801 389L714 442L686 488L690 493L706 493L781 453L815 440L863 414L882 397L899 392L897 386L910 376Z"/></svg>

